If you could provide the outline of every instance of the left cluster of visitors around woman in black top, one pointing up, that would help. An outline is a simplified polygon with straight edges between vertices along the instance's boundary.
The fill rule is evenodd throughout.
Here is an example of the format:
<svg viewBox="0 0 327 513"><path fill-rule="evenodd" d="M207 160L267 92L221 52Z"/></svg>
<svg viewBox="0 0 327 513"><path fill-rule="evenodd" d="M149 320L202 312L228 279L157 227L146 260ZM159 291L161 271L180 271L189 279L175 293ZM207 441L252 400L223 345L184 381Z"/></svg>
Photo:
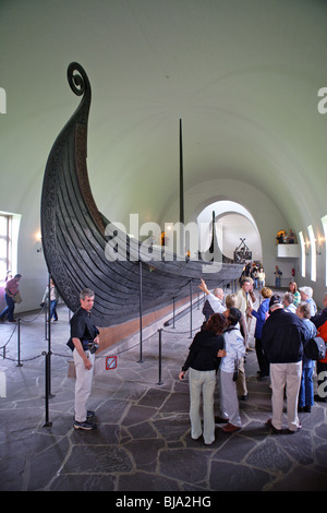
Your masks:
<svg viewBox="0 0 327 513"><path fill-rule="evenodd" d="M241 398L247 398L244 357L249 339L249 324L245 309L247 301L252 300L252 286L251 278L244 278L240 295L227 296L223 303L223 290L217 288L210 293L206 283L201 281L199 288L207 295L207 305L204 307L206 321L190 346L179 379L182 380L190 369L191 437L197 440L203 436L205 444L214 442L216 423L225 423L222 431L227 433L238 431L242 426L239 394ZM208 318L208 315L210 317ZM220 413L215 417L214 395L218 369ZM202 396L203 429L201 420Z"/></svg>

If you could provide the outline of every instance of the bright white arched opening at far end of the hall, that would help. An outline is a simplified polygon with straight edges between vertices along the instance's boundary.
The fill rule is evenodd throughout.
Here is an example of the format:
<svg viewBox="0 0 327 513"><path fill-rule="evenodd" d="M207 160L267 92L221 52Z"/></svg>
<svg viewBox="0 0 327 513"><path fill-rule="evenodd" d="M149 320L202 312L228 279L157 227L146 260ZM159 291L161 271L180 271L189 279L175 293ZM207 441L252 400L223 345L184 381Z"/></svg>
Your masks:
<svg viewBox="0 0 327 513"><path fill-rule="evenodd" d="M241 204L233 201L210 203L198 214L196 220L199 232L201 251L206 251L211 241L213 212L215 212L216 235L221 253L233 260L234 251L244 240L252 261L262 262L262 240L254 218Z"/></svg>

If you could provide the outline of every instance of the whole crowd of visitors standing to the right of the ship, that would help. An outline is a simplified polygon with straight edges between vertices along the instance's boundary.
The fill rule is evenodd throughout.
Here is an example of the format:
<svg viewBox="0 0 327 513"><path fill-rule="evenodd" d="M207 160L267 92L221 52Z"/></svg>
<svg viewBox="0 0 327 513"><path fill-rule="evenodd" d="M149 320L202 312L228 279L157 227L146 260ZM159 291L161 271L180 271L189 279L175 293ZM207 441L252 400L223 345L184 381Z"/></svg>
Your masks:
<svg viewBox="0 0 327 513"><path fill-rule="evenodd" d="M223 290L210 293L202 279L199 288L206 294L205 322L195 335L187 358L179 373L184 379L189 370L191 437L205 444L215 440L215 423L226 423L222 431L241 429L239 397L247 398L244 360L250 347L250 327L256 320L254 338L258 362L258 380L270 379L272 416L267 421L274 433L282 430L284 391L287 393L288 432L301 429L299 413L310 413L314 401L327 402L327 393L314 396L315 360L305 356L304 347L317 334L327 343L327 293L324 309L317 313L311 287L298 290L295 282L283 295L261 289L262 301L254 309L256 297L253 279L243 277L237 294L223 300ZM327 358L317 361L318 385L324 386ZM215 416L216 374L219 379L219 416ZM327 392L327 391L326 391ZM203 429L201 398L203 396Z"/></svg>

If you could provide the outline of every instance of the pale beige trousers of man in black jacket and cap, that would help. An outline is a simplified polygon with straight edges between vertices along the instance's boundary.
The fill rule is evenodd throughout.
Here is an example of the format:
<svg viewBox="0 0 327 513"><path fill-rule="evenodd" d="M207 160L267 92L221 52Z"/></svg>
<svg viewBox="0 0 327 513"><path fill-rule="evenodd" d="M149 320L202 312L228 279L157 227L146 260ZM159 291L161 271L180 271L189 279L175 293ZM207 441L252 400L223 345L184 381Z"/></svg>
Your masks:
<svg viewBox="0 0 327 513"><path fill-rule="evenodd" d="M295 363L270 363L271 380L271 422L276 429L282 426L283 393L287 392L288 428L296 431L300 426L298 399L301 385L302 361Z"/></svg>

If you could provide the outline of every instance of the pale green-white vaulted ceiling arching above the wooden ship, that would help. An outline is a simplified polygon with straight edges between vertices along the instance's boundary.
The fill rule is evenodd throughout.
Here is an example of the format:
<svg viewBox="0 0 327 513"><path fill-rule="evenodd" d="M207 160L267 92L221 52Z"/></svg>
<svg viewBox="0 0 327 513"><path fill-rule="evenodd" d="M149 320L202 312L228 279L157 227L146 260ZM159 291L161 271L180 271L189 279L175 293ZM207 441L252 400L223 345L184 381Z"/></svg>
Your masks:
<svg viewBox="0 0 327 513"><path fill-rule="evenodd" d="M88 170L107 217L178 220L165 215L179 198L180 118L186 201L231 179L295 229L322 217L326 22L320 0L2 0L0 210L38 214L49 151L78 103L65 79L77 61L93 87Z"/></svg>

